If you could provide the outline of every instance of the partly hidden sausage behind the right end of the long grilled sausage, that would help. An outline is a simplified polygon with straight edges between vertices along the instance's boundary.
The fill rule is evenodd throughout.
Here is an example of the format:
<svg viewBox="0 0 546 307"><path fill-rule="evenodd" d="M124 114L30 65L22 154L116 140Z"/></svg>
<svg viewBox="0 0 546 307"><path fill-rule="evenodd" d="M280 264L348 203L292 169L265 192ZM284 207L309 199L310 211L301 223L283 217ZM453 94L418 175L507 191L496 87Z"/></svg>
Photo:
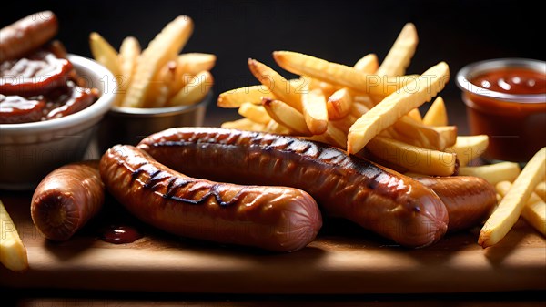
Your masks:
<svg viewBox="0 0 546 307"><path fill-rule="evenodd" d="M470 176L416 179L432 189L446 205L450 232L480 225L497 204L495 188L485 179Z"/></svg>

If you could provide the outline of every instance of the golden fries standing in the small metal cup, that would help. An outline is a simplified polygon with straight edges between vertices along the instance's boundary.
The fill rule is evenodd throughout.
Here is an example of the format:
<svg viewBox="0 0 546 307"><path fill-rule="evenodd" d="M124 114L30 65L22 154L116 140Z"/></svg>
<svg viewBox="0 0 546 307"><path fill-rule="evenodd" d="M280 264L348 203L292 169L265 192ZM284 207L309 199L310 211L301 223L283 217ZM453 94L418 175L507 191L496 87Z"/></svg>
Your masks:
<svg viewBox="0 0 546 307"><path fill-rule="evenodd" d="M119 53L98 33L89 46L96 61L116 77L116 106L174 107L195 104L207 96L214 79L210 70L216 56L204 53L179 55L193 32L193 21L180 15L140 50L135 37L127 36Z"/></svg>

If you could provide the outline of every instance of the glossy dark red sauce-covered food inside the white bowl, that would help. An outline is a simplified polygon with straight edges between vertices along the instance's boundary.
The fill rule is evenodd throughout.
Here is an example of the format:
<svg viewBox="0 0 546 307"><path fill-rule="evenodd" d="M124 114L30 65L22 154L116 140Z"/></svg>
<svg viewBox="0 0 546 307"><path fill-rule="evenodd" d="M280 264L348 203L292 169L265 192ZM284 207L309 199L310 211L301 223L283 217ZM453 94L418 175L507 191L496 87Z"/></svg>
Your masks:
<svg viewBox="0 0 546 307"><path fill-rule="evenodd" d="M66 58L39 49L0 64L0 124L61 118L95 103L96 88L85 87Z"/></svg>

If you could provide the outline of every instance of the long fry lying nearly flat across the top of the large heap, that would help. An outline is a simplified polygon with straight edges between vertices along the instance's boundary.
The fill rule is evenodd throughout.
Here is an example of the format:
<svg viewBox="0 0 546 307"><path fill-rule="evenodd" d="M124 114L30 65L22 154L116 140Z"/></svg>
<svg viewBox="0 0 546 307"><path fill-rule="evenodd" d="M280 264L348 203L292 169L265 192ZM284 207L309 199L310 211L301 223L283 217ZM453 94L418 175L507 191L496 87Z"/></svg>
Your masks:
<svg viewBox="0 0 546 307"><path fill-rule="evenodd" d="M359 92L386 97L417 79L417 76L380 77L363 73L354 67L331 63L315 56L291 51L273 53L279 67L291 73L305 75Z"/></svg>

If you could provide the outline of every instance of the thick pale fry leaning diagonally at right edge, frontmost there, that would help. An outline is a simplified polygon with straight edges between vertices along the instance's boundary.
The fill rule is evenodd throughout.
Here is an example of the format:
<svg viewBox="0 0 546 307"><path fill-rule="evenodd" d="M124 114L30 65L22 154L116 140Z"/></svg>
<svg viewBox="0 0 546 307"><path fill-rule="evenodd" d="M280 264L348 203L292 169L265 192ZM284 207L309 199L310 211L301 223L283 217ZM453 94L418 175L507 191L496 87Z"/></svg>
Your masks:
<svg viewBox="0 0 546 307"><path fill-rule="evenodd" d="M521 170L511 189L480 231L478 243L486 248L497 244L518 220L532 190L544 179L546 148L541 148Z"/></svg>

